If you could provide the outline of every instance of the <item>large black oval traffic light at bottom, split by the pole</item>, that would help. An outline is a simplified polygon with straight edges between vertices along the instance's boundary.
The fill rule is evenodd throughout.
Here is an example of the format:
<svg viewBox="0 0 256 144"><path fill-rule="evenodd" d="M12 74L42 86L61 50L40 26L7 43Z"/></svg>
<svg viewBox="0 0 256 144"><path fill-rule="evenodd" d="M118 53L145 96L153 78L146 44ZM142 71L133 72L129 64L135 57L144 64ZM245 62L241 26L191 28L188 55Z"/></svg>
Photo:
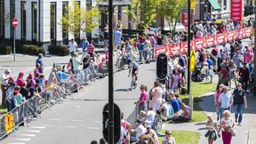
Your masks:
<svg viewBox="0 0 256 144"><path fill-rule="evenodd" d="M108 142L108 103L103 108L102 116L103 116L103 138ZM114 103L114 139L115 143L120 140L121 137L121 110L120 108Z"/></svg>

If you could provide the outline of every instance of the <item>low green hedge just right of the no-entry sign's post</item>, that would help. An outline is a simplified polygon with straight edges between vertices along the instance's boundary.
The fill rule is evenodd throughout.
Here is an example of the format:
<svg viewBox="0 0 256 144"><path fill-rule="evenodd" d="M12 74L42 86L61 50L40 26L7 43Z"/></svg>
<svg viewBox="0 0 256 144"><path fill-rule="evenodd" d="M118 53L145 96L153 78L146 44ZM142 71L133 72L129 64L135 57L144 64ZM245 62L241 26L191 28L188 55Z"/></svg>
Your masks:
<svg viewBox="0 0 256 144"><path fill-rule="evenodd" d="M34 44L22 44L20 46L17 46L16 52L38 55L39 53L44 54L44 48Z"/></svg>

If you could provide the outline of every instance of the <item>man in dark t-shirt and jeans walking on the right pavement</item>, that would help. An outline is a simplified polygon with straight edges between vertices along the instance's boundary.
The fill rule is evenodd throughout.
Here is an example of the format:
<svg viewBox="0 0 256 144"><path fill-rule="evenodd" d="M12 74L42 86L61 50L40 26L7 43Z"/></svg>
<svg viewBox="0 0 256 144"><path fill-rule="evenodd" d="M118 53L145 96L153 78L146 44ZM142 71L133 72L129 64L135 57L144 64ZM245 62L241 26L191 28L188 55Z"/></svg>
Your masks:
<svg viewBox="0 0 256 144"><path fill-rule="evenodd" d="M246 92L242 89L242 84L238 83L237 88L233 92L235 120L238 125L241 125L243 120L244 108L247 108Z"/></svg>

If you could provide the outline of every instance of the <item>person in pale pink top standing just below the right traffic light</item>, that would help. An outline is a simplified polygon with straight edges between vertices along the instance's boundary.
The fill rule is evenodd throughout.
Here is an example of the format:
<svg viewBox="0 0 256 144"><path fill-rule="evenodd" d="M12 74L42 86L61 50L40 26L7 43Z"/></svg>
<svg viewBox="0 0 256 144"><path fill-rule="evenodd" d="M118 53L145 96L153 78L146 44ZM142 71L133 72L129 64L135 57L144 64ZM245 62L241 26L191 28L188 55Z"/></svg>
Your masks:
<svg viewBox="0 0 256 144"><path fill-rule="evenodd" d="M163 90L160 87L160 83L158 81L156 81L154 83L154 88L151 91L152 106L153 106L154 110L159 110L159 108L161 107L161 104L162 104L162 94L163 94Z"/></svg>

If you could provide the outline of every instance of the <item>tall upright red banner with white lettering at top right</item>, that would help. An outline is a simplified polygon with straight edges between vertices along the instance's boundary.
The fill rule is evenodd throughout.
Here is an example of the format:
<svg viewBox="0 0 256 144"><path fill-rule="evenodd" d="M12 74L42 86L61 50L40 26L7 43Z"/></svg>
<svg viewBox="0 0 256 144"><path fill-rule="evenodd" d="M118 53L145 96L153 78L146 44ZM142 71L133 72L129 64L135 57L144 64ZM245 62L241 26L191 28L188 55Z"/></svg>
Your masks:
<svg viewBox="0 0 256 144"><path fill-rule="evenodd" d="M231 20L242 23L243 16L243 0L231 0Z"/></svg>

